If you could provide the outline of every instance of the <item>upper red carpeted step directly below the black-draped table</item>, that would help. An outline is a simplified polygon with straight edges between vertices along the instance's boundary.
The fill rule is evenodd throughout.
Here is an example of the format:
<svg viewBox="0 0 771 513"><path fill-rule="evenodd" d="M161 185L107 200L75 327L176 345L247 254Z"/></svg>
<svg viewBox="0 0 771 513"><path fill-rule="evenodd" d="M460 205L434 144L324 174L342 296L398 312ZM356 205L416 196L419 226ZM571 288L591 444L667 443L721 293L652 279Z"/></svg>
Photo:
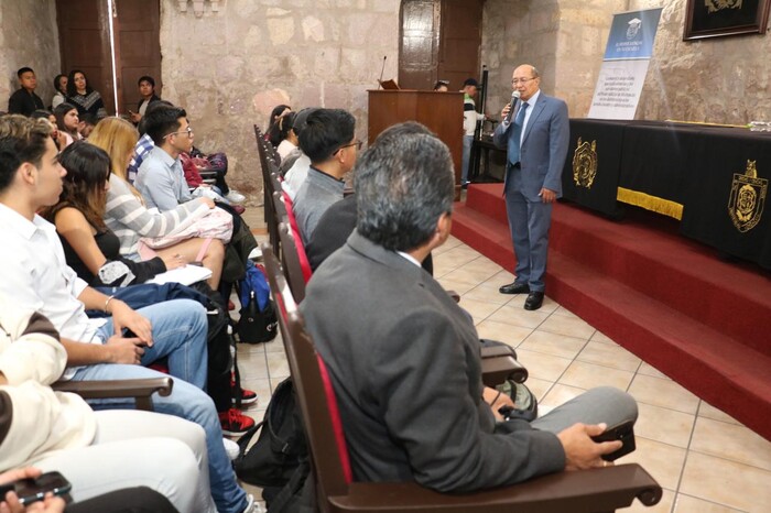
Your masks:
<svg viewBox="0 0 771 513"><path fill-rule="evenodd" d="M471 185L466 207L498 221L508 234L501 192L501 184ZM759 329L771 318L771 281L762 271L720 261L714 250L681 237L674 220L634 214L616 222L575 206L555 205L550 254L563 252L771 356L771 330ZM455 216L454 222L461 231L464 216ZM474 218L475 230L488 222ZM506 244L500 248L503 250ZM508 252L510 258L488 256L499 263L513 263L510 241ZM511 269L509 265L504 266Z"/></svg>

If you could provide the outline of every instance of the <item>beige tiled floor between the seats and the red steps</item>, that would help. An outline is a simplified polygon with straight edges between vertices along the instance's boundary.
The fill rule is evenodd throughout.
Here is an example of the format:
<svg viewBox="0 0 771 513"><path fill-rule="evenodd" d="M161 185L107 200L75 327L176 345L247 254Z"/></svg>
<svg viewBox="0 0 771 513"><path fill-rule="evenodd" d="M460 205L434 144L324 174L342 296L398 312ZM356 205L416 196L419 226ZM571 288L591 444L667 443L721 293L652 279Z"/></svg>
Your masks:
<svg viewBox="0 0 771 513"><path fill-rule="evenodd" d="M256 231L263 226L261 216L247 219ZM480 337L517 348L542 411L597 385L617 386L637 399L637 451L619 462L641 463L665 490L656 506L636 502L623 511L771 511L771 443L549 297L540 310L524 310L523 296L498 293L513 275L459 240L450 238L434 252L434 274L445 288L460 294L460 305L474 316ZM239 347L239 364L245 386L260 397L248 414L261 419L271 391L289 375L280 337Z"/></svg>

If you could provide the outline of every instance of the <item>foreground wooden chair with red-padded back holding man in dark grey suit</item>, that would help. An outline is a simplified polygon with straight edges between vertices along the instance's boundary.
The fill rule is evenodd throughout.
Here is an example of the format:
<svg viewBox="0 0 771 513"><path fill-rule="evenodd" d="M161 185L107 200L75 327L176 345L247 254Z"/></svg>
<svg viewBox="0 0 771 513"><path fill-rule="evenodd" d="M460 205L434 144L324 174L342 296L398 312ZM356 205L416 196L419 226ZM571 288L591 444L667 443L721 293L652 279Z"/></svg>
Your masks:
<svg viewBox="0 0 771 513"><path fill-rule="evenodd" d="M322 512L588 513L626 507L634 498L645 505L661 500L661 487L636 463L558 472L512 487L464 494L438 493L414 482L352 481L326 367L305 331L279 261L269 247L263 247L263 255L305 423Z"/></svg>

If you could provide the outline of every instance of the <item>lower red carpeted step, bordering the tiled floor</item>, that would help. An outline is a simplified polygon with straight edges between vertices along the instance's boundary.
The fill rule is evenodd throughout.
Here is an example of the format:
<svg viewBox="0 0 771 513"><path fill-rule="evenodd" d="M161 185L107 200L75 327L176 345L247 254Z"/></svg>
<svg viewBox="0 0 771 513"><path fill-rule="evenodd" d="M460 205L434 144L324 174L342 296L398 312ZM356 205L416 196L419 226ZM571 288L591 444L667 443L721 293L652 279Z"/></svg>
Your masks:
<svg viewBox="0 0 771 513"><path fill-rule="evenodd" d="M547 294L699 397L771 439L771 357L561 253Z"/></svg>

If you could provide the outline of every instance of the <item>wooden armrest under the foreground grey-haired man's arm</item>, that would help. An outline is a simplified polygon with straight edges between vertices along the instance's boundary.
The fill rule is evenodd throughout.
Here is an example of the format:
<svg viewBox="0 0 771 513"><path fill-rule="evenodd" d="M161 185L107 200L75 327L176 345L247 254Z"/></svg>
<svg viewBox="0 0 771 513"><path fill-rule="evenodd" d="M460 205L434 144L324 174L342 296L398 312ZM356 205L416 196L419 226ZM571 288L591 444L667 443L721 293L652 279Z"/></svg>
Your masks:
<svg viewBox="0 0 771 513"><path fill-rule="evenodd" d="M590 513L656 504L662 490L639 465L558 472L511 487L474 493L438 493L416 483L355 482L347 495L329 496L330 512Z"/></svg>

